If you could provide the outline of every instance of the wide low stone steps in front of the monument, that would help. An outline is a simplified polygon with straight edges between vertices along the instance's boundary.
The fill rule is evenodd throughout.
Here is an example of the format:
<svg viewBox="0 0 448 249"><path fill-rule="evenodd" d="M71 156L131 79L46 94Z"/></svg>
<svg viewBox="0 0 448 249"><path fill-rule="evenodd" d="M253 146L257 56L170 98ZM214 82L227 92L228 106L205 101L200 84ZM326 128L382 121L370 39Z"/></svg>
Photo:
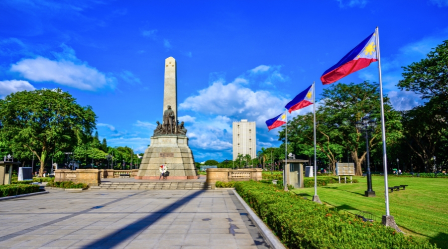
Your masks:
<svg viewBox="0 0 448 249"><path fill-rule="evenodd" d="M205 182L104 182L90 190L211 189Z"/></svg>

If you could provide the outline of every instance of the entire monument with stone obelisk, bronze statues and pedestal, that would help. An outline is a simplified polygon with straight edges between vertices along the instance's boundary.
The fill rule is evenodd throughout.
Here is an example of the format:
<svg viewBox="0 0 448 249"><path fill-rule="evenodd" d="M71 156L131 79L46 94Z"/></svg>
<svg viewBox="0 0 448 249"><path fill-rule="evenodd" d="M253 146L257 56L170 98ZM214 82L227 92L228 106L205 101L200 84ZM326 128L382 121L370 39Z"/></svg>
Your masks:
<svg viewBox="0 0 448 249"><path fill-rule="evenodd" d="M165 60L165 88L163 94L163 124L157 122L151 144L145 150L135 179L161 179L160 168L168 169L166 179L198 179L193 152L188 146L184 122L177 124L176 60ZM168 108L168 106L170 106ZM169 109L174 112L174 119ZM165 115L167 113L167 115ZM170 126L173 125L174 127Z"/></svg>

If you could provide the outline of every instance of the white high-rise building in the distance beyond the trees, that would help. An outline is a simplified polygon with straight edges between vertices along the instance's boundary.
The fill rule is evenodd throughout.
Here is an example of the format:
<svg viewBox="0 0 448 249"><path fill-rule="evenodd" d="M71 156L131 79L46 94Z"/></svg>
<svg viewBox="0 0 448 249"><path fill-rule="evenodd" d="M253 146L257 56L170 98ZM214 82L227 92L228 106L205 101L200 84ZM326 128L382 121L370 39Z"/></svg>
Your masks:
<svg viewBox="0 0 448 249"><path fill-rule="evenodd" d="M252 158L257 156L255 122L233 122L233 160L238 154L249 154Z"/></svg>

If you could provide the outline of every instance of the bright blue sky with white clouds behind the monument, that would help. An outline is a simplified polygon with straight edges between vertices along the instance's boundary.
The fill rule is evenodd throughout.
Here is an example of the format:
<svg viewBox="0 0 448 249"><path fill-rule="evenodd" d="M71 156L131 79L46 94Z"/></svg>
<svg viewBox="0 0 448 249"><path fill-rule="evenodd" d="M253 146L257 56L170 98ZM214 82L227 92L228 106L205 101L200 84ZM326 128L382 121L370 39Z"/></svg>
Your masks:
<svg viewBox="0 0 448 249"><path fill-rule="evenodd" d="M0 1L0 97L59 87L98 115L110 146L143 152L163 111L164 60L177 61L179 119L196 161L231 157L231 124L264 121L380 30L384 91L397 110L401 66L448 38L448 0ZM341 80L378 81L377 63ZM302 110L298 114L307 112Z"/></svg>

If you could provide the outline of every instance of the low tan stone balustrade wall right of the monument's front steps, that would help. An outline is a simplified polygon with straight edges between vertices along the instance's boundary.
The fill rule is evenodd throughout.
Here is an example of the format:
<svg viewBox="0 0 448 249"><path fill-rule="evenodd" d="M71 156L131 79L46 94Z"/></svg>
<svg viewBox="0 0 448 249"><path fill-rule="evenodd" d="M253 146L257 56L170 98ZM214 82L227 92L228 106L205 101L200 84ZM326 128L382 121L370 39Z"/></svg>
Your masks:
<svg viewBox="0 0 448 249"><path fill-rule="evenodd" d="M207 185L215 189L216 182L259 181L262 169L207 169Z"/></svg>

